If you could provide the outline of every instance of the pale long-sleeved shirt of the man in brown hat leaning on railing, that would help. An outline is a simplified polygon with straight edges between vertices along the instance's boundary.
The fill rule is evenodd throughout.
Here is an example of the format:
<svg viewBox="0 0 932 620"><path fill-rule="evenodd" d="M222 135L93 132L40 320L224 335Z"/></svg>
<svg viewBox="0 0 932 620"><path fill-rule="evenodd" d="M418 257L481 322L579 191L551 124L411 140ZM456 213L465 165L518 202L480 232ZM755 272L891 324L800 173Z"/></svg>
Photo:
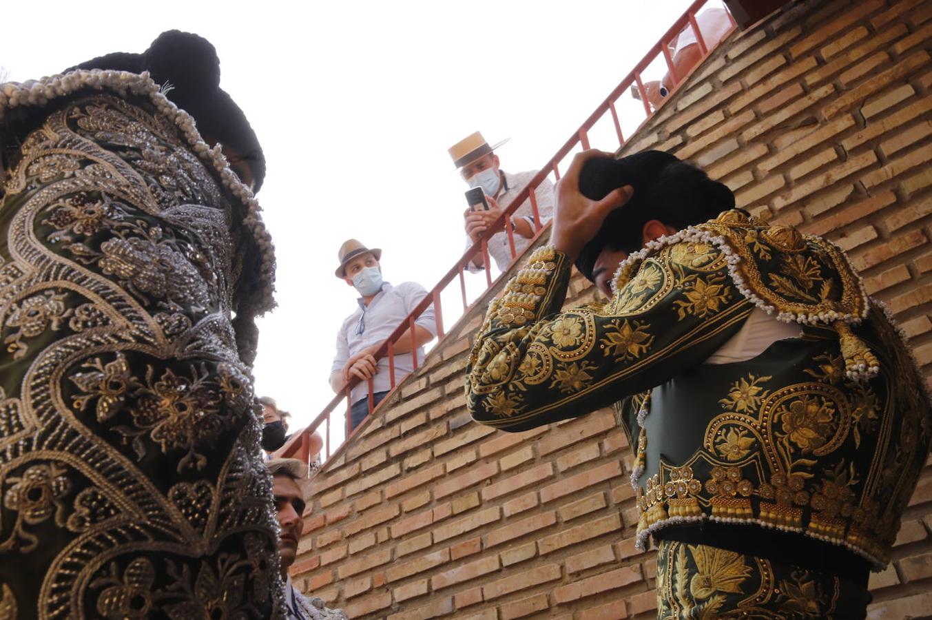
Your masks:
<svg viewBox="0 0 932 620"><path fill-rule="evenodd" d="M362 297L357 299L359 308L346 318L336 334L336 357L334 357L334 365L330 372L343 370L343 366L350 357L366 347L389 338L391 332L395 331L395 328L407 318L411 310L414 310L425 296L427 296L427 291L417 282L402 282L398 286L385 282L382 284L382 290L373 297L368 306L363 303ZM437 335L433 305L421 313L415 324L431 332L433 336ZM411 353L399 353L394 358L395 385L398 385L414 370L414 358ZM423 361L424 348L418 347L418 365ZM372 379L372 388L374 393L391 390L388 355L378 361L376 376ZM368 394L368 381L363 381L353 388L351 400L356 403L367 398Z"/></svg>

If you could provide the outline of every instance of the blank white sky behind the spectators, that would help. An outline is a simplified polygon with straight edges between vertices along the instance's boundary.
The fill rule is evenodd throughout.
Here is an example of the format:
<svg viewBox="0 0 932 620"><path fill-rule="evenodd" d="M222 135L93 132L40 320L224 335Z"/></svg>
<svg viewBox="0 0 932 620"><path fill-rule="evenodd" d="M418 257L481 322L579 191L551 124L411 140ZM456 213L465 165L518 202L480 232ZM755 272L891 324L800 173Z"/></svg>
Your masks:
<svg viewBox="0 0 932 620"><path fill-rule="evenodd" d="M268 165L258 199L277 248L279 308L260 321L256 388L296 427L333 396L336 329L356 307L333 275L342 241L381 247L387 281L430 290L464 249L467 187L446 148L478 130L490 143L511 138L504 170L540 168L689 4L10 1L0 66L10 80L47 76L144 51L171 28L213 43L221 86ZM643 109L625 95L618 110L630 134ZM617 147L596 135L592 145ZM484 290L484 274L467 280ZM447 328L461 308L456 282L451 294Z"/></svg>

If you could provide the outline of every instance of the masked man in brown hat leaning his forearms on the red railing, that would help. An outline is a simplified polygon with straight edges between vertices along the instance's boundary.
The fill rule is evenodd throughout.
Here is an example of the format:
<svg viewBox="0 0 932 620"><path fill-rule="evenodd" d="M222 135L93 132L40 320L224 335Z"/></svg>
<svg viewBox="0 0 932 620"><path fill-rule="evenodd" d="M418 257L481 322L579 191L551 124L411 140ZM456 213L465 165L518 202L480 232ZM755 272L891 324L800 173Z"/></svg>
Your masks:
<svg viewBox="0 0 932 620"><path fill-rule="evenodd" d="M369 414L369 379L372 379L373 406L377 406L391 391L388 355L377 360L376 351L407 315L418 306L427 291L417 282L402 282L398 286L382 280L382 257L379 248L369 249L360 241L350 239L337 253L340 264L334 275L359 293L359 307L347 317L336 335L336 357L330 371L330 387L342 392L352 379L360 382L352 389L350 430ZM424 310L415 322L418 341L418 362L424 359L424 345L437 335L433 306ZM414 370L411 354L411 332L404 332L393 345L395 384Z"/></svg>

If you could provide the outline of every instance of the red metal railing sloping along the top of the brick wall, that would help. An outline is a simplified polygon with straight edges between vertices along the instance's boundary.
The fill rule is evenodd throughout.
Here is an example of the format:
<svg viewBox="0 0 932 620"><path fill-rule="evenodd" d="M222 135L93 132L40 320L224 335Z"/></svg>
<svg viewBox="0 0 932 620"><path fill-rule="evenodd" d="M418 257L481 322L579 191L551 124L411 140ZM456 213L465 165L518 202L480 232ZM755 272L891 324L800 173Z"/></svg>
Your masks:
<svg viewBox="0 0 932 620"><path fill-rule="evenodd" d="M394 392L399 382L401 382L403 377L395 376L395 364L394 364L394 343L398 341L404 335L405 331L410 329L410 338L411 338L411 353L414 361L414 368L418 368L418 342L415 334L415 322L418 320L418 317L427 310L431 305L434 306L434 316L436 320L437 328L437 338L444 338L444 322L443 314L441 312L440 296L446 289L446 287L459 278L459 289L462 296L462 307L463 314L470 310L470 302L466 296L466 281L463 271L467 269L470 262L473 261L477 255L482 255L483 258L483 267L486 271L486 283L487 287L491 287L492 282L492 273L489 265L489 254L488 254L488 241L492 238L493 235L499 234L500 230L503 228L505 234L508 237L508 245L510 253L512 255L512 262L517 257L515 253L514 245L514 229L508 224L510 221L510 216L523 205L526 201L529 200L531 212L534 216L534 237L531 241L536 240L540 235L541 231L549 225L548 223L541 222L541 216L538 211L538 202L537 197L535 196L534 190L536 190L544 179L547 178L550 174L554 175L556 181L560 179L559 165L563 162L565 158L577 147L582 147L583 149L590 148L589 145L589 132L596 126L603 118L606 118L606 114L610 115L614 134L617 138L617 144L620 148L625 144L624 135L622 132L622 122L619 117L618 111L616 109L616 103L622 98L624 93L629 90L632 86L637 88L637 92L640 95L639 99L643 103L644 114L642 122L637 126L638 128L643 125L653 114L656 113L648 98L648 91L644 86L644 82L641 79L642 74L651 67L651 64L657 60L658 57L663 57L667 72L670 76L670 81L674 85L670 89L670 94L666 97L664 101L670 98L682 82L688 78L692 71L698 67L703 60L706 59L709 53L713 51L717 46L720 40L727 38L728 34L731 34L735 28L734 20L730 13L728 14L729 20L732 22L732 26L728 29L728 32L725 33L719 41L712 42L711 45L706 43L705 37L702 32L700 32L699 25L696 21L696 15L699 10L706 6L709 0L696 0L692 5L687 8L686 12L679 17L677 21L673 23L672 26L666 31L666 33L661 37L661 39L648 51L648 53L635 65L635 68L628 73L627 76L624 76L624 79L615 88L612 90L610 95L596 107L596 110L583 121L583 124L580 128L573 133L569 140L556 151L554 157L550 158L544 166L541 168L541 171L534 175L534 178L531 179L528 186L525 186L518 195L512 200L506 208L502 210L502 213L499 219L496 221L495 225L487 229L482 237L473 243L473 245L466 251L466 253L460 256L456 264L453 265L449 271L446 272L445 276L441 278L440 282L433 287L431 292L425 296L418 306L411 311L408 317L404 320L402 324L399 324L398 327L391 333L391 336L386 339L381 347L376 351L375 357L377 360L380 360L384 356L388 356L389 359L389 373L390 373L390 383L391 391ZM713 2L712 4L719 6L719 3ZM695 34L696 43L699 46L702 56L698 62L696 62L691 67L680 68L678 70L675 58L671 53L670 48L673 47L673 43L678 38L678 35L684 31L686 28L692 28L692 32ZM682 71L683 75L679 76L678 74ZM663 105L661 102L657 109ZM635 130L637 131L637 130ZM612 149L615 150L615 149ZM500 276L501 277L501 276ZM422 360L420 361L422 362ZM331 445L331 434L333 431L333 417L336 415L336 411L339 410L341 401L346 399L346 439L349 439L352 434L355 433L355 429L349 428L349 411L352 406L352 397L350 395L352 389L360 383L360 379L351 379L346 385L343 386L340 393L337 393L333 399L323 407L322 412L318 417L312 421L308 426L303 429L301 432L296 433L288 443L282 447L278 455L279 456L290 456L302 458L306 462L308 459L312 459L315 454L308 453L308 450L313 449L314 446L318 445L320 442L321 435L317 435L317 439L314 439L314 435L322 430L322 452L323 452L323 461L326 462L331 459L336 453L346 445L346 441L338 447ZM391 398L391 393L386 395L385 401L388 401ZM368 404L370 414L377 411L378 406L374 405L373 400L373 384L372 379L368 379ZM362 426L362 424L360 424ZM357 427L358 428L358 427ZM319 450L321 448L318 448Z"/></svg>

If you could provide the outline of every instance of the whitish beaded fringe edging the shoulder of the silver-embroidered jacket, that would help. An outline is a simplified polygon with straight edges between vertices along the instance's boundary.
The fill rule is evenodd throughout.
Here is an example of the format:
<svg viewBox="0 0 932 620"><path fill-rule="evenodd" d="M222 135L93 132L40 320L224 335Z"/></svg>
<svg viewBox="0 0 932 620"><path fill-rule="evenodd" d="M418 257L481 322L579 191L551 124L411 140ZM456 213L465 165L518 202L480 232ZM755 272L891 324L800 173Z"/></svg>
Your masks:
<svg viewBox="0 0 932 620"><path fill-rule="evenodd" d="M0 120L7 109L20 106L44 106L50 100L65 97L79 90L108 90L121 98L128 95L148 97L158 112L170 119L185 135L185 140L198 157L219 173L223 185L246 207L243 225L255 240L260 253L261 281L252 295L252 310L263 313L275 307L275 251L271 235L262 222L261 207L254 199L249 187L240 182L235 172L229 169L220 145L211 148L201 138L194 117L180 109L165 97L162 89L147 72L137 75L126 71L101 69L76 70L61 76L43 77L26 82L7 82L0 85ZM167 90L166 90L167 91Z"/></svg>

